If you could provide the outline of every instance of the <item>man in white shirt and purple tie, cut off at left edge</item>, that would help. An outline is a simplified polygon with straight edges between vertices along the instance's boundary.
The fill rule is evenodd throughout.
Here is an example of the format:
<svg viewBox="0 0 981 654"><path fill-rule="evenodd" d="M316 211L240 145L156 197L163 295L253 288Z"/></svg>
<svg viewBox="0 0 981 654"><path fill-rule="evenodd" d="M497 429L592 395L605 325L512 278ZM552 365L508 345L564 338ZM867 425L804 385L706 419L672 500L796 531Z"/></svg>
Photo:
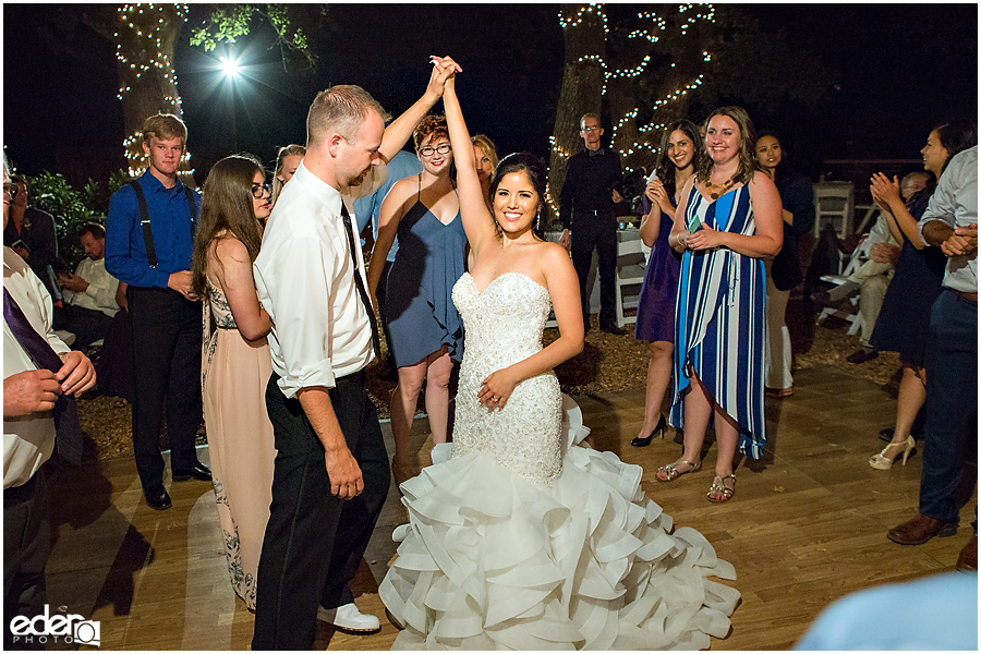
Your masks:
<svg viewBox="0 0 981 654"><path fill-rule="evenodd" d="M10 178L3 160L3 227L10 211ZM3 249L3 640L14 642L14 616L44 611L45 565L51 553L48 501L41 464L55 449L51 411L58 396L87 390L95 370L87 356L69 350L51 329L51 296L27 264ZM53 372L35 364L14 336L8 303L50 346L64 365Z"/></svg>

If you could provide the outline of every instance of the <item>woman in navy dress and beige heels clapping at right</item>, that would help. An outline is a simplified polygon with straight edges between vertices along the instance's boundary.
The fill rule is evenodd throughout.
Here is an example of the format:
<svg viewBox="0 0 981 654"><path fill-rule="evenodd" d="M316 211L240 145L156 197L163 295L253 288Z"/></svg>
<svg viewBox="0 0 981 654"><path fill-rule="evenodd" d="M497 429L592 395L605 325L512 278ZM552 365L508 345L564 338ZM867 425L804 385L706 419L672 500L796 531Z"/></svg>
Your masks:
<svg viewBox="0 0 981 654"><path fill-rule="evenodd" d="M923 169L940 179L957 153L977 143L977 133L964 133L950 124L930 132L927 145L920 150ZM869 459L876 470L888 470L896 459L903 464L912 452L916 440L910 435L913 421L927 401L927 341L930 337L930 310L941 293L947 258L937 247L927 247L917 227L927 210L935 184L910 198L909 207L899 194L899 182L879 172L872 177L872 198L882 209L893 238L903 243L896 272L889 282L882 311L875 320L871 342L884 351L899 352L903 378L899 380L899 403L896 407L896 428L892 441Z"/></svg>

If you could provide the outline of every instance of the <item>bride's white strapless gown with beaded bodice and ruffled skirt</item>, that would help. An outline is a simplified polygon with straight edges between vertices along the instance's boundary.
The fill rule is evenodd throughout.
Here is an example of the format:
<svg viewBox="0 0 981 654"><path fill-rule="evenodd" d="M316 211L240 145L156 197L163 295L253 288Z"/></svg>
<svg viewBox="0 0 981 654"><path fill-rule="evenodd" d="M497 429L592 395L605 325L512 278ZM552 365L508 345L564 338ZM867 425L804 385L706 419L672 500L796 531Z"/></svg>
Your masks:
<svg viewBox="0 0 981 654"><path fill-rule="evenodd" d="M468 358L487 358L471 349L480 327L468 314L497 315L493 332L506 328L511 344L522 339L517 324L501 324L505 314L524 301L538 310L533 329L541 310L542 325L547 317L547 293L534 281L498 287L479 292L464 275L453 292L468 328L456 440L446 446L453 456L401 486L410 524L379 590L404 626L393 649L705 649L724 638L739 593L707 578L735 579L732 566L699 532L673 531L644 496L640 467L567 445L576 429L560 426L554 376L519 385L499 411L469 397L488 366L468 370ZM536 460L542 451L550 464Z"/></svg>

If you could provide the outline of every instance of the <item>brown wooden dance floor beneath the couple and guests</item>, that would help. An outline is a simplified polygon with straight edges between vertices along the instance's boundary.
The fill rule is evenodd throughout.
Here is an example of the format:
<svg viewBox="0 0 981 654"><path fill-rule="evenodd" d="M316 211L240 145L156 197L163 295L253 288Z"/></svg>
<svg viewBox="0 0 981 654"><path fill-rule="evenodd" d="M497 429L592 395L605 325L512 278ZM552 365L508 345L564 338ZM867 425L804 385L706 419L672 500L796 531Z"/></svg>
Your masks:
<svg viewBox="0 0 981 654"><path fill-rule="evenodd" d="M790 649L822 608L847 593L953 570L971 535L977 489L956 537L917 547L889 542L886 531L916 511L922 460L918 452L891 471L867 463L883 446L876 435L893 425L896 401L831 367L799 371L796 388L792 398L766 400L770 452L761 463L740 464L736 497L722 506L705 499L714 446L703 471L673 484L657 482L654 471L680 456L674 432L647 448L630 447L643 416L642 390L576 398L593 429L592 447L643 465L647 495L736 567L732 585L742 603L729 637L713 639L714 650ZM428 462L425 428L417 420L413 439ZM206 461L207 451L201 453ZM166 483L173 508L158 512L143 501L132 459L58 472L52 611L64 607L98 620L102 650L249 649L253 616L229 583L211 485ZM392 489L353 583L361 609L378 616L377 586L396 549L391 530L405 521L398 497ZM888 614L883 607L881 619ZM382 631L366 637L320 623L315 649L387 650L396 633L384 617Z"/></svg>

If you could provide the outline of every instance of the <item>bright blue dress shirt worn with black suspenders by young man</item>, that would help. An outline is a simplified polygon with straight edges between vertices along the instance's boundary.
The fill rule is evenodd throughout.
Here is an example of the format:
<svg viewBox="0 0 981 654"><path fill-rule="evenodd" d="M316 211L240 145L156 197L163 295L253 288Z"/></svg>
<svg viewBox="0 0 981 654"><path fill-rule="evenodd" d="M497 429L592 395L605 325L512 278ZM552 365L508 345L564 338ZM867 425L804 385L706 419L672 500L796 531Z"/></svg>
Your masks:
<svg viewBox="0 0 981 654"><path fill-rule="evenodd" d="M191 269L196 217L201 214L201 195L194 195L195 222L192 222L184 184L180 180L167 189L160 180L144 172L137 183L146 197L157 267L150 268L146 242L140 225L136 192L126 184L109 199L106 221L106 270L134 287L162 287L173 272Z"/></svg>

